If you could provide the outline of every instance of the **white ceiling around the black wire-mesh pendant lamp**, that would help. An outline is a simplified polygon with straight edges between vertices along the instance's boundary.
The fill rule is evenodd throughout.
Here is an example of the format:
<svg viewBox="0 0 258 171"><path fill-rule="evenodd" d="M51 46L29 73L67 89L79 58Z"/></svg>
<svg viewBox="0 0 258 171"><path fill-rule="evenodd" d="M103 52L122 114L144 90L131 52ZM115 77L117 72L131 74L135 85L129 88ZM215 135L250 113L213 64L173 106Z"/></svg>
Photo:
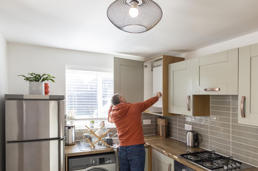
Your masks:
<svg viewBox="0 0 258 171"><path fill-rule="evenodd" d="M0 32L8 42L152 58L258 31L257 0L155 0L162 19L138 34L108 20L113 1L0 0Z"/></svg>

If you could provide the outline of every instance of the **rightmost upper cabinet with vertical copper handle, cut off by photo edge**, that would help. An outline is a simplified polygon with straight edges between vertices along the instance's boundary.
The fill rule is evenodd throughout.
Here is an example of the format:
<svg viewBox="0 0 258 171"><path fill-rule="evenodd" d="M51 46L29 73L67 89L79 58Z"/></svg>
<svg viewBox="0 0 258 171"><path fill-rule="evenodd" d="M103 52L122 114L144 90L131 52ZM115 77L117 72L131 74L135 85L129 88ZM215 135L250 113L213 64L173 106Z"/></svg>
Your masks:
<svg viewBox="0 0 258 171"><path fill-rule="evenodd" d="M239 48L238 123L258 126L258 44Z"/></svg>

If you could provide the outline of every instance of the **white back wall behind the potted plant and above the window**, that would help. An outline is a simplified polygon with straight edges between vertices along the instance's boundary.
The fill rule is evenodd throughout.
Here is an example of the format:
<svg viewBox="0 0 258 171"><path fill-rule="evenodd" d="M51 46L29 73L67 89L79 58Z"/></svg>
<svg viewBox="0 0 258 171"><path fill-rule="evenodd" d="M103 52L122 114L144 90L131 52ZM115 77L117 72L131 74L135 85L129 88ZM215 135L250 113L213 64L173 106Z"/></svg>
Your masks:
<svg viewBox="0 0 258 171"><path fill-rule="evenodd" d="M116 56L120 58L130 58ZM65 65L113 68L114 55L73 51L43 46L8 43L8 93L28 94L28 82L17 75L35 72L50 74L57 79L48 81L50 95L65 95ZM143 58L131 58L143 60Z"/></svg>

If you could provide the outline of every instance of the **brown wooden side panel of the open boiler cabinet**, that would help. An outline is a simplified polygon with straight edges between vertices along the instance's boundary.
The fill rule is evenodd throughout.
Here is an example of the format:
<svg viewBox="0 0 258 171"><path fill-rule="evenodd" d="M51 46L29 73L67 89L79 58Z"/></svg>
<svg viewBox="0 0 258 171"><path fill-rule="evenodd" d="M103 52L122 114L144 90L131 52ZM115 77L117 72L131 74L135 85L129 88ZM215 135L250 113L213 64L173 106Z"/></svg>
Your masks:
<svg viewBox="0 0 258 171"><path fill-rule="evenodd" d="M184 58L163 55L163 116L178 115L174 113L168 113L168 64L184 61Z"/></svg>

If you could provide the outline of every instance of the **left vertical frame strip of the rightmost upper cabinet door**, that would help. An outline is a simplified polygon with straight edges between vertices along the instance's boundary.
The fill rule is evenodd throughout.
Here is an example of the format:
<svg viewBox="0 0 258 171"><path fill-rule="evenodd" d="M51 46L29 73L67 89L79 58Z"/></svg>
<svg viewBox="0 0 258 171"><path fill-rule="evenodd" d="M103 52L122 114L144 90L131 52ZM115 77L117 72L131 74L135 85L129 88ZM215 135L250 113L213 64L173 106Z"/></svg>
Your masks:
<svg viewBox="0 0 258 171"><path fill-rule="evenodd" d="M250 73L251 57L250 45L239 48L238 56L238 123L250 124ZM241 97L245 96L245 118L241 117L240 103Z"/></svg>

